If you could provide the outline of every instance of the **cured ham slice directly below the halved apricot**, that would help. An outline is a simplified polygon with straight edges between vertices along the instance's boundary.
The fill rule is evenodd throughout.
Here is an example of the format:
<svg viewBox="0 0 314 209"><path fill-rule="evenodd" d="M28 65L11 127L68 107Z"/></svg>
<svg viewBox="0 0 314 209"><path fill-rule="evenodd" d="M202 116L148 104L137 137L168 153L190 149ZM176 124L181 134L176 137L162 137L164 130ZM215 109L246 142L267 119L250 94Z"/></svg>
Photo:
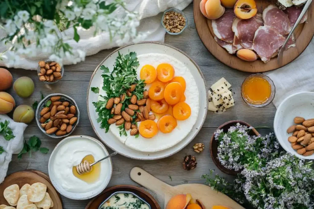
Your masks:
<svg viewBox="0 0 314 209"><path fill-rule="evenodd" d="M252 49L255 32L262 25L262 14L256 14L250 19L235 18L232 24L232 31L239 39L243 48Z"/></svg>

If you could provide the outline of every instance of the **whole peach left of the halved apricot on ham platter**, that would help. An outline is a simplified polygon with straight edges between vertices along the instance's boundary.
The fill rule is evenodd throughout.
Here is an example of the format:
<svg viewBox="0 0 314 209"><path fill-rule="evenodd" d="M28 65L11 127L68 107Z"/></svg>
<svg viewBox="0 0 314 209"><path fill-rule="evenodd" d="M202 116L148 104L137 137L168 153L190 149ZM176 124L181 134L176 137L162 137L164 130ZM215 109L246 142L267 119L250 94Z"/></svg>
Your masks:
<svg viewBox="0 0 314 209"><path fill-rule="evenodd" d="M202 0L199 4L202 14L211 20L220 18L225 13L220 0Z"/></svg>

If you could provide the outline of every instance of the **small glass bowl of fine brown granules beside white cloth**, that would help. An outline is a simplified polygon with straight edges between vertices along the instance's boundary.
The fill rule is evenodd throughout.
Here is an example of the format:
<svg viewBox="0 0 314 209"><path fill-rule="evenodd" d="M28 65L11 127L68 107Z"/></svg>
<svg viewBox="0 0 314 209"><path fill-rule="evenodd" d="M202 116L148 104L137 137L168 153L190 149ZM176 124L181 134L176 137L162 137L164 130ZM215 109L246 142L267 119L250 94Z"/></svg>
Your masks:
<svg viewBox="0 0 314 209"><path fill-rule="evenodd" d="M187 16L176 8L168 9L161 18L161 24L170 35L179 35L187 28Z"/></svg>

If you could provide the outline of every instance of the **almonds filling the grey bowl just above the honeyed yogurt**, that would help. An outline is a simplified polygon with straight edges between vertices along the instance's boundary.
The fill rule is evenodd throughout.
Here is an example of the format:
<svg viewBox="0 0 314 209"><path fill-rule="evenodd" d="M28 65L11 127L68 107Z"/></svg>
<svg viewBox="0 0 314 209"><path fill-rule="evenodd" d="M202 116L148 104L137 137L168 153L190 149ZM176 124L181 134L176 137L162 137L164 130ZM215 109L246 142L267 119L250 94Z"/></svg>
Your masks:
<svg viewBox="0 0 314 209"><path fill-rule="evenodd" d="M73 124L78 120L76 107L68 101L62 101L59 96L51 97L50 101L49 107L44 107L40 112L41 127L47 134L63 136L70 133Z"/></svg>

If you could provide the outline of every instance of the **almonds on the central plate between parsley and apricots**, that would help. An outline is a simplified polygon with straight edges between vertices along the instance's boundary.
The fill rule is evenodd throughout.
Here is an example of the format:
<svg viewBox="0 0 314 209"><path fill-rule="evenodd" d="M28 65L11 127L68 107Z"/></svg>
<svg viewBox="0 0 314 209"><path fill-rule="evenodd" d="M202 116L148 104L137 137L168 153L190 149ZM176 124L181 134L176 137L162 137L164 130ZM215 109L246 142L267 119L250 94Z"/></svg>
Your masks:
<svg viewBox="0 0 314 209"><path fill-rule="evenodd" d="M130 104L122 110L122 102L125 100L126 95L122 94L120 97L110 98L106 104L106 108L111 109L112 118L108 119L108 124L116 123L116 126L124 124L126 131L131 129L130 135L134 136L138 133L138 127L133 122L133 116L135 115L135 122L144 120L154 120L155 115L150 114L150 99L148 98L148 91L143 92L143 99L138 100L136 95L132 95L132 91L135 90L135 84L131 85L131 88L127 91L127 96Z"/></svg>

